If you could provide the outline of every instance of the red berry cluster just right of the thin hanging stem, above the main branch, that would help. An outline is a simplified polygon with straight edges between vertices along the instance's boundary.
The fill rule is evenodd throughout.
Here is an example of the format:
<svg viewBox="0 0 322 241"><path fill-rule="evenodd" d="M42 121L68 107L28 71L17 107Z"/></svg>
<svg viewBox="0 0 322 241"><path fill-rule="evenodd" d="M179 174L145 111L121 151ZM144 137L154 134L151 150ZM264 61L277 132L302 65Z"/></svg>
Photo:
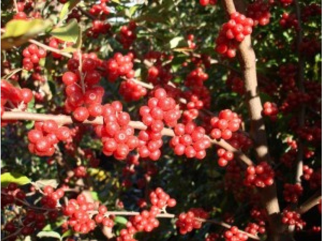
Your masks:
<svg viewBox="0 0 322 241"><path fill-rule="evenodd" d="M133 68L133 53L129 52L127 55L115 53L113 58L104 62L103 66L107 72L107 78L110 82L115 82L119 76L125 76L128 79L134 77Z"/></svg>

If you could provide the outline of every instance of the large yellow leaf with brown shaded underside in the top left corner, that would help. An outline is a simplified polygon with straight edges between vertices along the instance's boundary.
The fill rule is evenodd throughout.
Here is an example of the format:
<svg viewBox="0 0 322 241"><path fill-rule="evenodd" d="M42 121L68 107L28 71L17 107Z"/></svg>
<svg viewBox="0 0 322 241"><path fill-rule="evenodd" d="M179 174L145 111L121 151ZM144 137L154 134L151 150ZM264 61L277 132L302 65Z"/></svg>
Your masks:
<svg viewBox="0 0 322 241"><path fill-rule="evenodd" d="M11 20L6 24L5 33L1 36L1 49L20 46L51 26L52 21L48 19Z"/></svg>

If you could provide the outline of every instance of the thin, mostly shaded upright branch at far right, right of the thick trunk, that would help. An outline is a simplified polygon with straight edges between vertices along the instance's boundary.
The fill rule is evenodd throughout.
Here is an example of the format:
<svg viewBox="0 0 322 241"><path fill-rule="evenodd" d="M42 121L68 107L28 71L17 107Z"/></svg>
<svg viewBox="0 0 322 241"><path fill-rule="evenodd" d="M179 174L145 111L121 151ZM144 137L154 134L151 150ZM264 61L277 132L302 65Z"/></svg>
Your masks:
<svg viewBox="0 0 322 241"><path fill-rule="evenodd" d="M302 24L301 24L301 9L298 0L294 1L296 17L298 20L298 31L296 38L296 48L298 52L298 89L304 93L304 60L301 54L301 43L302 43ZM298 125L302 127L304 125L305 107L301 104L298 112ZM303 175L303 143L299 140L298 153L296 156L297 168L296 168L296 179L295 181L301 183L301 176Z"/></svg>

